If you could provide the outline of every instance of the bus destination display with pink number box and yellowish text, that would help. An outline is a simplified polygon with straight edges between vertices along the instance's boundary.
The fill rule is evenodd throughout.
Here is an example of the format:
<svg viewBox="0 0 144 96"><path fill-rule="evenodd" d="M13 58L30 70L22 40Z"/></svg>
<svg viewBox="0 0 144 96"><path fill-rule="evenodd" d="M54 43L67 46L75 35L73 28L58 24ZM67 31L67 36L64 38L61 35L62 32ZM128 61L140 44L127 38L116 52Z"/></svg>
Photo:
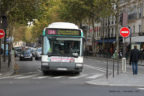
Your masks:
<svg viewBox="0 0 144 96"><path fill-rule="evenodd" d="M46 35L80 36L80 30L72 29L46 29Z"/></svg>

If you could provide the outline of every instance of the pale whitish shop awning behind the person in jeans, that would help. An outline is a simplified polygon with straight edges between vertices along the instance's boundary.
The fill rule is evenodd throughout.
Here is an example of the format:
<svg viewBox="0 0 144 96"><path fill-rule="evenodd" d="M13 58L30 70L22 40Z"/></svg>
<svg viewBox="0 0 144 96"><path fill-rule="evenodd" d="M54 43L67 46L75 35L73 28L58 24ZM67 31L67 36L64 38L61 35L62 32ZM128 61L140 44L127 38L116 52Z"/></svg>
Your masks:
<svg viewBox="0 0 144 96"><path fill-rule="evenodd" d="M130 42L130 37L125 39L125 42ZM144 42L144 36L135 36L135 37L131 37L131 43L140 43L140 42Z"/></svg>

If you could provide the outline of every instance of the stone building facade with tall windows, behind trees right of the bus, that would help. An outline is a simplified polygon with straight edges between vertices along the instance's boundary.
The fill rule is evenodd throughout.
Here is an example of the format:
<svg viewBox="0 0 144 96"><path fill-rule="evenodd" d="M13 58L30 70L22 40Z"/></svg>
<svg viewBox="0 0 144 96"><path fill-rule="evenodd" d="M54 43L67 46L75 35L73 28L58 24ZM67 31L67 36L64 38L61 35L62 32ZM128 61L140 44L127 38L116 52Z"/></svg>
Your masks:
<svg viewBox="0 0 144 96"><path fill-rule="evenodd" d="M126 46L130 50L130 46L135 44L144 48L144 0L120 0L119 2L119 20L118 29L129 27L131 35L126 38ZM87 32L88 46L92 46L92 36L95 38L95 51L99 53L109 53L112 55L116 49L116 17L111 15L107 18L101 18L100 23L95 23L94 30L89 26ZM131 38L131 40L130 40ZM141 39L140 39L141 38ZM139 40L139 41L136 41ZM123 39L119 34L119 48L123 47Z"/></svg>

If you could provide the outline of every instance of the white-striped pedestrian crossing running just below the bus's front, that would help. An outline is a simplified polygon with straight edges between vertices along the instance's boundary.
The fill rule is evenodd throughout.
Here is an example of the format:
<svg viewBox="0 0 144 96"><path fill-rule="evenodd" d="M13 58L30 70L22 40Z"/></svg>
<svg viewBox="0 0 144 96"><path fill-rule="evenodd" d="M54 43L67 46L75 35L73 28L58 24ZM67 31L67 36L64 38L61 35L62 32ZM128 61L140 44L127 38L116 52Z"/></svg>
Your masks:
<svg viewBox="0 0 144 96"><path fill-rule="evenodd" d="M32 80L41 80L41 79L71 79L71 80L76 80L76 79L86 79L86 80L91 80L91 79L97 79L99 77L104 76L104 74L101 73L91 73L91 74L80 74L77 76L43 76L41 74L24 74L24 75L12 75L12 76L0 76L0 80L5 80L5 79L16 79L16 80L22 80L22 79L32 79Z"/></svg>

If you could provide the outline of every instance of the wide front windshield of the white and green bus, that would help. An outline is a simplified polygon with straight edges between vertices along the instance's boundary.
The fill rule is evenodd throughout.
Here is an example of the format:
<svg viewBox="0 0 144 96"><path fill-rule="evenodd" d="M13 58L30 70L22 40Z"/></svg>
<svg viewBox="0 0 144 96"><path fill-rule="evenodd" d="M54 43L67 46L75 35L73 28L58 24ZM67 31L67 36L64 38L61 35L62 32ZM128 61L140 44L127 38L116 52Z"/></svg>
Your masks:
<svg viewBox="0 0 144 96"><path fill-rule="evenodd" d="M43 54L49 56L80 56L81 38L44 37Z"/></svg>

